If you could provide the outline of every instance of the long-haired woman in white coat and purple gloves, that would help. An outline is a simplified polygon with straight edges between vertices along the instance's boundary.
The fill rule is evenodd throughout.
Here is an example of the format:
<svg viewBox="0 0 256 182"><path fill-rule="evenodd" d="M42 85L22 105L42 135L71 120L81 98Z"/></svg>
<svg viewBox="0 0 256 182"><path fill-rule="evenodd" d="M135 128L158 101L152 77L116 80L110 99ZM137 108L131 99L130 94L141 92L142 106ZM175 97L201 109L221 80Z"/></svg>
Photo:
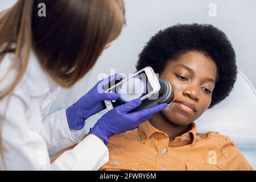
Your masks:
<svg viewBox="0 0 256 182"><path fill-rule="evenodd" d="M41 4L40 4L41 3ZM40 5L46 5L40 16ZM39 5L40 4L40 5ZM117 93L98 82L75 104L51 115L60 88L93 67L125 23L121 0L19 0L0 15L0 168L97 170L108 162L108 138L132 130L166 107L128 113L141 100L115 107L85 136L86 119ZM128 113L128 114L127 114ZM49 156L73 146L51 164Z"/></svg>

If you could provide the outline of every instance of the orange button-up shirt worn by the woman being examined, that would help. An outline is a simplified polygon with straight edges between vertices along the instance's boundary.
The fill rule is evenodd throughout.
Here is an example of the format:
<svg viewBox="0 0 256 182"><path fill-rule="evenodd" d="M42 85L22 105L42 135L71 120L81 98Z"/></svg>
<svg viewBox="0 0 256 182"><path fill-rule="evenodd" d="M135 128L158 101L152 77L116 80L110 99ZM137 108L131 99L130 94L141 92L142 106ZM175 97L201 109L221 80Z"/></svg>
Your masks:
<svg viewBox="0 0 256 182"><path fill-rule="evenodd" d="M253 170L229 137L196 133L196 125L174 141L144 122L110 137L109 163L100 170Z"/></svg>

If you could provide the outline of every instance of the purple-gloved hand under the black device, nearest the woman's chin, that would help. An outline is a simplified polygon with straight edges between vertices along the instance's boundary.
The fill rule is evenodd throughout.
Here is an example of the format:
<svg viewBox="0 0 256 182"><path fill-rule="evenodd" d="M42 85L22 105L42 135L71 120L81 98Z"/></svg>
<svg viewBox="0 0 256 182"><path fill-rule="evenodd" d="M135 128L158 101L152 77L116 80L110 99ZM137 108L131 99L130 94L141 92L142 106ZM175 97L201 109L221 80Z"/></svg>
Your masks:
<svg viewBox="0 0 256 182"><path fill-rule="evenodd" d="M109 137L128 130L134 130L142 122L152 118L153 114L167 107L167 104L164 103L134 113L128 113L141 105L141 103L141 99L137 99L115 107L104 114L90 129L90 132L98 138L104 139L105 144L108 144Z"/></svg>

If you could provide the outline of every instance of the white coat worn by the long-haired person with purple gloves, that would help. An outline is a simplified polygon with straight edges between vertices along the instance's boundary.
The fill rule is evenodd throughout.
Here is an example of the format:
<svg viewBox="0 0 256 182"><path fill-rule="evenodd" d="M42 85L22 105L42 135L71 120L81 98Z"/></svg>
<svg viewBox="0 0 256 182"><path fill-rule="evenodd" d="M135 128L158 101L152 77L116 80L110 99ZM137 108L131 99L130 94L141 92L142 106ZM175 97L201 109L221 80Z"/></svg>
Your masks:
<svg viewBox="0 0 256 182"><path fill-rule="evenodd" d="M8 54L0 64L0 78L11 64ZM15 71L0 82L0 91L9 85ZM71 130L65 109L48 115L60 92L40 68L33 52L22 80L8 97L0 101L0 114L5 115L1 134L5 150L0 158L0 169L7 170L97 170L108 163L109 152L96 136L85 135L85 130ZM82 140L81 140L82 139ZM49 156L77 144L64 152L52 164Z"/></svg>

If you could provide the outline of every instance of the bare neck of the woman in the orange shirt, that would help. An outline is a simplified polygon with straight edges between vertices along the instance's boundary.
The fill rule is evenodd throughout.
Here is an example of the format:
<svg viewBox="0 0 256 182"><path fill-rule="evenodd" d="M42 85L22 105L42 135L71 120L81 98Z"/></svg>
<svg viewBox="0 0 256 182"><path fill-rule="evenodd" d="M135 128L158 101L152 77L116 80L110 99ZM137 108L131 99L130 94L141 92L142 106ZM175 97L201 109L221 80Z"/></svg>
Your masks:
<svg viewBox="0 0 256 182"><path fill-rule="evenodd" d="M186 133L189 129L189 126L177 126L172 122L168 121L163 114L156 113L149 120L151 125L156 129L163 131L169 137L169 142L172 142L175 137L179 137L180 135Z"/></svg>

